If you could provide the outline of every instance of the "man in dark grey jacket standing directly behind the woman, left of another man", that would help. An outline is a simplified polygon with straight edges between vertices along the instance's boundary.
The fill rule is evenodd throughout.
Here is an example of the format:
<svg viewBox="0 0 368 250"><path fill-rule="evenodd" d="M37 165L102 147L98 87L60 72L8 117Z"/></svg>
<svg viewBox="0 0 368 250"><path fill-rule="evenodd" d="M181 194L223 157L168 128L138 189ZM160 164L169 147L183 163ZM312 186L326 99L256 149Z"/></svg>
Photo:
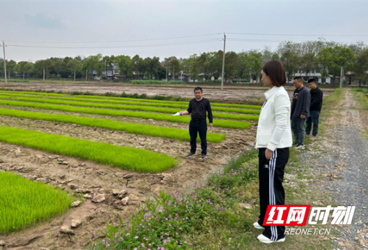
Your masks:
<svg viewBox="0 0 368 250"><path fill-rule="evenodd" d="M294 77L295 91L291 104L291 130L294 132L296 148L304 149L305 118L310 116L310 91L303 85L301 77Z"/></svg>

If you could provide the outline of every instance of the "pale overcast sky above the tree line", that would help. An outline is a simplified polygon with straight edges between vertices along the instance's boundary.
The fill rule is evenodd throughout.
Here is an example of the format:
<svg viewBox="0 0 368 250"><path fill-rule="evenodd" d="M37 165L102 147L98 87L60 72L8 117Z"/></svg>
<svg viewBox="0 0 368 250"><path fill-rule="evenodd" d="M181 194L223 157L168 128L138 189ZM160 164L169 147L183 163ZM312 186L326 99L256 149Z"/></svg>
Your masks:
<svg viewBox="0 0 368 250"><path fill-rule="evenodd" d="M49 57L89 56L98 53L109 56L159 56L163 60L168 56L186 58L191 54L223 49L223 33L227 34L226 51L234 52L263 49L265 46L275 49L280 40L315 40L323 36L259 36L232 33L360 35L325 38L368 43L367 11L367 0L0 0L0 40L5 40L8 45L6 58L15 61L34 62ZM175 39L155 40L162 38ZM231 40L234 38L243 40ZM251 41L252 39L256 41ZM180 42L187 43L178 45ZM1 47L0 57L3 57L2 49Z"/></svg>

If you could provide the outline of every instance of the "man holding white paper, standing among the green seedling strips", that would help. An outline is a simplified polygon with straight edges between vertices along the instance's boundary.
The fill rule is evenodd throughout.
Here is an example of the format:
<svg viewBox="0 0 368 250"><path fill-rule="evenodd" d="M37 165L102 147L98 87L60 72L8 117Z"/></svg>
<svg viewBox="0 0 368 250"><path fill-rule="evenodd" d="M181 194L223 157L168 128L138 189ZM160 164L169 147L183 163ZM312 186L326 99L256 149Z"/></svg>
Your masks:
<svg viewBox="0 0 368 250"><path fill-rule="evenodd" d="M191 136L191 152L186 157L195 155L197 149L197 134L200 135L200 146L202 148L202 159L207 158L207 112L209 126L212 127L214 118L212 117L211 104L203 97L202 88L194 88L194 96L186 111L179 112L180 116L191 114L189 123L189 135Z"/></svg>

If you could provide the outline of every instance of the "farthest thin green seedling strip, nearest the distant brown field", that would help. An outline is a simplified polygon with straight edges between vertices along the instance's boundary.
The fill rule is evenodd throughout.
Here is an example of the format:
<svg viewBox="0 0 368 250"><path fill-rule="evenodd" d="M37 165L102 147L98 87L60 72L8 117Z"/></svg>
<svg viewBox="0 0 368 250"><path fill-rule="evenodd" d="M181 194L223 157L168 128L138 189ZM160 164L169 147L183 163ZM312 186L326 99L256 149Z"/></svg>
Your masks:
<svg viewBox="0 0 368 250"><path fill-rule="evenodd" d="M6 92L12 92L12 91L6 91ZM13 91L15 92L15 91ZM38 92L26 92L26 91L19 91L19 93L38 93ZM45 93L45 95L61 95L62 94L54 94L54 93ZM177 101L163 101L163 100L150 100L150 99L138 99L138 98L129 98L129 97L110 97L110 96L100 96L100 95L77 95L81 98L92 98L92 99L105 99L105 100L131 100L135 102L154 102L154 103L165 103L165 104L186 104L188 105L189 102L177 102ZM247 104L226 104L226 103L218 103L214 102L211 103L211 107L237 107L242 109L258 109L260 110L262 106L259 105L247 105Z"/></svg>

